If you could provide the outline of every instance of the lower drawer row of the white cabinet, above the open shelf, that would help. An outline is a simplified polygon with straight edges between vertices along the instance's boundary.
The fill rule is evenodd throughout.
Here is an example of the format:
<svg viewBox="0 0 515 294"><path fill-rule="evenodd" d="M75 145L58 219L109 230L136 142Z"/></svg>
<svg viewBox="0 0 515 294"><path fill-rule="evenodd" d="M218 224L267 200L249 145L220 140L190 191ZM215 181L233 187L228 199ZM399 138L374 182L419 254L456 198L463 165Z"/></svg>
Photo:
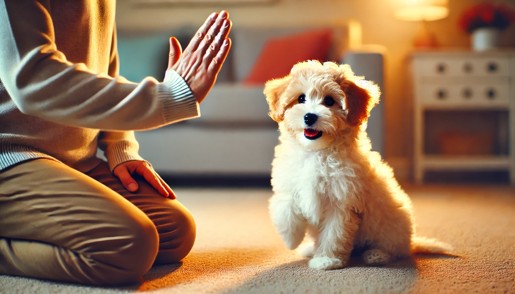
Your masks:
<svg viewBox="0 0 515 294"><path fill-rule="evenodd" d="M507 107L508 84L427 84L422 86L421 103L446 107Z"/></svg>

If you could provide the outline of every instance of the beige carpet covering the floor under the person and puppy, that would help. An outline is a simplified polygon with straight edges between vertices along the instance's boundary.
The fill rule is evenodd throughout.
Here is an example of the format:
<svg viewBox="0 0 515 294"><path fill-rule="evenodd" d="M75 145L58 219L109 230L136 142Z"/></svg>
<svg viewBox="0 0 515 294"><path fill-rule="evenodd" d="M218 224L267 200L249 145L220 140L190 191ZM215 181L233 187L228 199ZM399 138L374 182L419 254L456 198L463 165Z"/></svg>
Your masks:
<svg viewBox="0 0 515 294"><path fill-rule="evenodd" d="M181 265L152 268L139 285L96 288L0 275L0 293L515 293L515 190L407 188L418 232L456 247L368 267L355 258L332 271L285 249L267 215L268 190L177 190L197 221Z"/></svg>

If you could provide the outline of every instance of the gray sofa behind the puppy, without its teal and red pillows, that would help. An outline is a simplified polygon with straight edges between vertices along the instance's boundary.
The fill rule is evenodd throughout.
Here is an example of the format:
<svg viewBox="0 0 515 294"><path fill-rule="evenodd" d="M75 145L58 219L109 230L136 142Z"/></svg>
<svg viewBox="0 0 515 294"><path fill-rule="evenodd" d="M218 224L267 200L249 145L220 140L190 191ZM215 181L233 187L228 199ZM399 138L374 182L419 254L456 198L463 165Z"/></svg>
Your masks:
<svg viewBox="0 0 515 294"><path fill-rule="evenodd" d="M346 29L345 26L334 28L335 41L330 58L349 63L356 74L364 75L382 87L383 55L374 51L350 50L346 46ZM136 132L141 156L168 178L269 177L273 149L278 143L277 123L267 114L263 86L248 87L241 81L268 38L299 30L302 28L233 30L230 35L233 40L231 53L217 83L200 106L201 116L156 130ZM189 33L178 38L183 48L188 36L193 35ZM139 47L142 47L138 38L123 36L118 37L122 75L124 62L131 62L126 56L126 46L140 42ZM156 52L160 50L155 49ZM126 64L126 71L130 68L128 66ZM374 108L368 124L373 149L380 152L383 149L382 128L383 110L380 105Z"/></svg>

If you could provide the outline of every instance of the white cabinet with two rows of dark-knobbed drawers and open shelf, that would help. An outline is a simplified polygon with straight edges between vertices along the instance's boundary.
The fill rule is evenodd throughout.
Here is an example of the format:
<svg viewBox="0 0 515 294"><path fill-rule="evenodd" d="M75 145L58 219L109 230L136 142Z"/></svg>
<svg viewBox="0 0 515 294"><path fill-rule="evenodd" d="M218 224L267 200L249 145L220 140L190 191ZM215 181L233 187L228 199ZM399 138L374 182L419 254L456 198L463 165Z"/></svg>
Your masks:
<svg viewBox="0 0 515 294"><path fill-rule="evenodd" d="M515 183L515 51L426 51L413 54L414 175L422 183L427 170L499 170ZM507 113L507 152L483 155L427 153L428 111ZM500 119L501 121L502 119ZM442 125L442 122L439 122ZM443 123L444 125L444 123Z"/></svg>

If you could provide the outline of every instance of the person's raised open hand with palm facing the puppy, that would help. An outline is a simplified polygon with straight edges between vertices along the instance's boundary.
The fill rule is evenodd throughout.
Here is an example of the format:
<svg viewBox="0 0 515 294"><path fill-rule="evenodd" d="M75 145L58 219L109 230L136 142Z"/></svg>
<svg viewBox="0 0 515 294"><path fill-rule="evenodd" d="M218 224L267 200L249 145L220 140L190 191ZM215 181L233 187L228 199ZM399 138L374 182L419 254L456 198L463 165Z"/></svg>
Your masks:
<svg viewBox="0 0 515 294"><path fill-rule="evenodd" d="M170 38L168 70L172 69L181 75L199 103L213 88L229 53L231 39L227 35L231 26L229 13L222 10L219 14L213 12L205 20L184 52L177 39Z"/></svg>

